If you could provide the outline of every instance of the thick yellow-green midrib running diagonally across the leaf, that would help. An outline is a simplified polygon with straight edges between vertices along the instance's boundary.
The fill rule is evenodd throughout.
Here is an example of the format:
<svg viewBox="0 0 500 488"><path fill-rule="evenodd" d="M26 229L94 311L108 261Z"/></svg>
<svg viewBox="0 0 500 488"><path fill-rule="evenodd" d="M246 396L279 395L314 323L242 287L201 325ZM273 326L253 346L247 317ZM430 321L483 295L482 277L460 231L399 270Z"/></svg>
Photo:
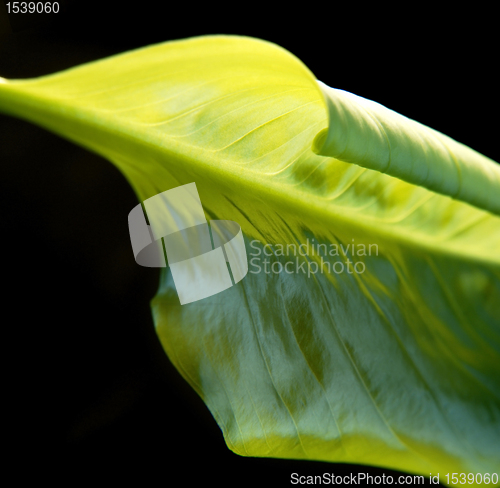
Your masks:
<svg viewBox="0 0 500 488"><path fill-rule="evenodd" d="M215 153L211 151L204 152L206 161L202 162L194 159L189 156L189 149L198 149L198 147L180 141L176 137L166 136L165 140L168 140L169 147L159 147L156 139L148 137L146 128L137 130L137 126L132 123L127 124L122 119L117 121L112 114L99 113L97 118L93 110L78 105L69 109L61 109L57 105L57 99L34 93L33 90L26 90L27 86L24 82L12 81L0 84L0 109L8 115L18 116L30 122L40 123L40 120L43 119L41 125L49 127L59 135L61 135L62 131L59 129L58 124L61 122L81 124L87 129L91 128L94 134L106 134L108 139L114 141L115 147L120 147L120 151L113 150L111 145L103 147L96 144L88 137L81 138L76 132L73 132L72 140L84 148L92 147L94 152L109 158L112 162L114 157L124 159L123 154L129 153L129 151L123 150L124 148L129 148L133 154L138 152L138 147L142 147L145 151L149 151L151 155L158 155L160 160L167 157L171 164L174 162L179 165L188 163L191 167L197 168L200 174L209 173L213 179L221 181L223 185L234 186L237 184L242 189L252 192L252 194L255 194L256 191L265 193L265 198L268 202L270 201L269 203L287 209L286 212L292 215L303 215L307 217L306 221L310 220L311 215L314 215L318 222L326 225L331 224L332 221L338 222L347 229L356 229L367 236L376 236L378 242L386 242L389 246L398 243L418 250L418 252L430 252L442 256L456 257L469 262L500 267L500 254L495 254L494 250L491 250L490 254L485 254L484 248L472 249L469 247L468 252L466 252L463 247L459 247L453 242L448 241L443 244L442 237L437 240L430 233L401 232L400 227L387 225L384 219L361 214L344 206L336 206L328 197L313 195L313 198L311 198L310 193L290 184L283 185L282 180L276 184L275 180L270 179L266 174L240 166L238 167L238 173L232 171L229 164L221 163L216 158ZM67 126L65 130L68 132ZM366 169L366 171L374 170ZM283 188L284 186L285 188ZM265 188L265 192L262 192L262 188ZM426 190L431 194L450 198ZM450 198L450 200L452 199ZM468 205L465 202L461 202L461 204ZM487 211L474 208L478 212L484 212L485 216L493 216Z"/></svg>

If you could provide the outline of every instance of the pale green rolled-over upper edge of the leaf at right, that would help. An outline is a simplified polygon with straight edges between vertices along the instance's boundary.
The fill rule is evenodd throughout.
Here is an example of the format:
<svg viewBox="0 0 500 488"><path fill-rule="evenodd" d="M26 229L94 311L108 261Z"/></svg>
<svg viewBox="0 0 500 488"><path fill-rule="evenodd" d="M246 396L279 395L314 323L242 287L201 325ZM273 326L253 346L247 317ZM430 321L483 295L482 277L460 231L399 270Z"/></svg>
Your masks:
<svg viewBox="0 0 500 488"><path fill-rule="evenodd" d="M329 127L312 150L500 215L500 165L384 106L318 82Z"/></svg>

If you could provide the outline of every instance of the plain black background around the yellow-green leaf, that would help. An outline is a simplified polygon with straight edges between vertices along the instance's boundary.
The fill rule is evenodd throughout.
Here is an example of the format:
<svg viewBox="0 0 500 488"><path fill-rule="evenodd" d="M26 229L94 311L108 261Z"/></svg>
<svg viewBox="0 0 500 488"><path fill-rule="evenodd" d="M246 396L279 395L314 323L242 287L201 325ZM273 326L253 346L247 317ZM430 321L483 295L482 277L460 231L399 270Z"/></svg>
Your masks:
<svg viewBox="0 0 500 488"><path fill-rule="evenodd" d="M312 4L271 11L60 3L59 14L7 21L1 12L0 76L40 76L194 35L250 35L285 47L326 84L500 160L498 41L487 12L437 19ZM4 426L12 434L4 442L21 477L72 484L138 472L146 484L166 486L288 486L292 472L391 473L227 449L156 338L149 301L158 273L133 260L127 215L137 200L110 163L1 116L0 203L4 402L11 407Z"/></svg>

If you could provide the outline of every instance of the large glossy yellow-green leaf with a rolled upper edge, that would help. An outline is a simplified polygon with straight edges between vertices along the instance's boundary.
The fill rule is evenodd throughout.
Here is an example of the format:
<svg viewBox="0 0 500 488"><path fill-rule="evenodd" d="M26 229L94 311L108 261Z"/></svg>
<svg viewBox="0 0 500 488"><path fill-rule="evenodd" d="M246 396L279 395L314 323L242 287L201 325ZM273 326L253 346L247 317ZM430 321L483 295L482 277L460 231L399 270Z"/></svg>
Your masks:
<svg viewBox="0 0 500 488"><path fill-rule="evenodd" d="M152 302L230 449L500 471L496 163L251 38L1 81L0 110L105 156L141 201L194 181L240 224L241 282L181 306L166 268Z"/></svg>

